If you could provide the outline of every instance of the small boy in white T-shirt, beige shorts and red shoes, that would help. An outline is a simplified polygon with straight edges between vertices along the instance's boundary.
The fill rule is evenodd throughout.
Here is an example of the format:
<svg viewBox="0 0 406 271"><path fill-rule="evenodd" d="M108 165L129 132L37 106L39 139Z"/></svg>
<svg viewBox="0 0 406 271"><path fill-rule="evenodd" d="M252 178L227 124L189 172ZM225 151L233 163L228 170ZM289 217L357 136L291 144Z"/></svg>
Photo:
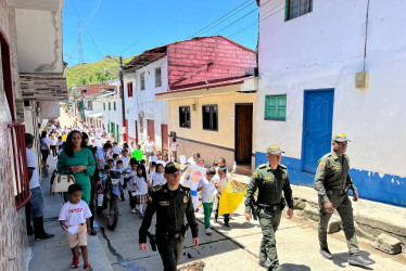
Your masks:
<svg viewBox="0 0 406 271"><path fill-rule="evenodd" d="M84 270L93 270L88 262L88 247L87 247L87 235L90 234L90 217L91 212L86 202L81 201L81 186L77 183L71 184L67 193L69 194L69 202L62 206L60 212L60 224L61 228L66 231L66 237L69 243L69 247L74 258L72 260L72 267L79 267L79 256L76 246L81 249L81 256L84 257Z"/></svg>

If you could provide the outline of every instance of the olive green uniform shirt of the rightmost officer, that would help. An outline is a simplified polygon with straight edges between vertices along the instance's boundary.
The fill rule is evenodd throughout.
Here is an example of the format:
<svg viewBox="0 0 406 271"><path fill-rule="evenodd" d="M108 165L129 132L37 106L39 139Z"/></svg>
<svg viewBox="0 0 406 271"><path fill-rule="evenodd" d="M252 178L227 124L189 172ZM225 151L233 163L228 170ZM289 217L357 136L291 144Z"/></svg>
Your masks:
<svg viewBox="0 0 406 271"><path fill-rule="evenodd" d="M346 154L339 157L332 151L319 159L315 176L315 185L323 203L330 202L326 190L344 190L347 186L355 190L348 172L350 158Z"/></svg>

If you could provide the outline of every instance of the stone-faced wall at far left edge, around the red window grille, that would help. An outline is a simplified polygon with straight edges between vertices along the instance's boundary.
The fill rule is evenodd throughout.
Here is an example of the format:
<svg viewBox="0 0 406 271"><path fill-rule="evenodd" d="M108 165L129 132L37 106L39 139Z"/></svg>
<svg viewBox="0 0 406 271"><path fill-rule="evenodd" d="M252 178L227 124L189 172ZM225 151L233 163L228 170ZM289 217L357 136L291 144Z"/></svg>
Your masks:
<svg viewBox="0 0 406 271"><path fill-rule="evenodd" d="M14 99L21 99L16 62L15 14L14 9L7 7L5 0L0 0L0 33L10 47ZM8 129L11 119L3 86L3 70L0 65L0 270L20 271L26 270L28 241L25 229L25 210L22 208L16 211L15 208Z"/></svg>

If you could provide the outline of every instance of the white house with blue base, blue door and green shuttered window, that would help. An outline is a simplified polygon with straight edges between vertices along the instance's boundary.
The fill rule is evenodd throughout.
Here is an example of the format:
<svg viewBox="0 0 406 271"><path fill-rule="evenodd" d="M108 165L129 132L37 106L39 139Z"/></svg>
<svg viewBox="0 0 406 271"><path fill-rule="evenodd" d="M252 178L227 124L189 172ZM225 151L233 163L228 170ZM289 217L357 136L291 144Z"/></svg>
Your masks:
<svg viewBox="0 0 406 271"><path fill-rule="evenodd" d="M277 143L291 182L313 184L332 134L345 132L359 195L406 206L406 1L258 5L256 166Z"/></svg>

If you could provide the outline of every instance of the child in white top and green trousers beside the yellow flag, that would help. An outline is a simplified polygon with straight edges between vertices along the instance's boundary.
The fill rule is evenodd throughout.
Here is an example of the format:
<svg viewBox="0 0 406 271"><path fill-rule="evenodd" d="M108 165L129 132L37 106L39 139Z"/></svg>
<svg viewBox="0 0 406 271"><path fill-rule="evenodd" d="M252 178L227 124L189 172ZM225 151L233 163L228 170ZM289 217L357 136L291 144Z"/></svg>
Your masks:
<svg viewBox="0 0 406 271"><path fill-rule="evenodd" d="M206 229L206 234L212 234L210 229L210 218L213 211L214 198L217 195L217 190L214 185L214 176L216 175L216 169L210 168L206 171L206 177L202 178L199 182L198 191L202 191L202 203L204 209L204 225Z"/></svg>

